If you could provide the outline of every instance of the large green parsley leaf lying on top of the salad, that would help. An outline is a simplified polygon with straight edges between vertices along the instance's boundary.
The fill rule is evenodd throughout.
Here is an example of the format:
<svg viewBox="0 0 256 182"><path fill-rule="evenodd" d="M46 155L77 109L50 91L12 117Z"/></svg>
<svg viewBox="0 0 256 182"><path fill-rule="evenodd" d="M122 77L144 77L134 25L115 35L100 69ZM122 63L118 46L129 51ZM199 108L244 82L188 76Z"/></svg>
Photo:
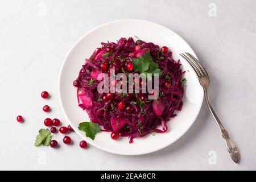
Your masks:
<svg viewBox="0 0 256 182"><path fill-rule="evenodd" d="M145 73L147 77L147 73L158 73L159 76L163 73L163 71L158 68L158 64L153 61L148 51L144 52L143 55L139 56L137 59L133 59L133 68L136 72Z"/></svg>

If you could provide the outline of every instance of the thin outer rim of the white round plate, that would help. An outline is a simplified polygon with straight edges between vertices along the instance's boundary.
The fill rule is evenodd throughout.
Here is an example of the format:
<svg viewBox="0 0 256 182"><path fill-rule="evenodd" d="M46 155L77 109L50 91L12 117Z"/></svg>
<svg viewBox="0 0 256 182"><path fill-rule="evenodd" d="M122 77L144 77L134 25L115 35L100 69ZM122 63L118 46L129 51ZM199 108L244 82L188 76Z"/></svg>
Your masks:
<svg viewBox="0 0 256 182"><path fill-rule="evenodd" d="M61 106L61 111L62 113L64 114L64 117L65 119L68 121L69 125L71 125L71 127L73 128L73 130L75 130L76 134L78 134L82 139L85 139L85 136L84 135L81 135L80 132L76 129L76 127L73 126L72 122L69 121L68 119L68 116L67 114L65 113L65 110L64 110L64 107L63 107L63 102L61 100L61 97L60 97L60 82L61 82L61 75L63 74L63 67L65 65L65 62L67 61L67 58L68 56L70 55L70 53L72 52L73 48L75 48L77 46L77 44L79 44L81 42L82 39L84 39L85 36L87 36L88 34L90 34L91 32L97 30L98 28L101 28L101 27L104 27L108 24L112 24L112 23L117 23L117 22L125 22L125 21L141 21L141 22L146 22L146 23L151 23L151 24L155 24L156 26L160 26L162 28L166 28L168 29L169 31L171 31L175 36L179 37L181 40L183 40L183 42L185 44L187 44L187 46L189 48L191 48L192 50L192 53L193 55L197 58L197 55L195 53L195 51L193 51L192 47L189 46L189 44L187 43L187 41L185 41L179 34L177 34L176 32L174 32L173 30L171 30L170 28L166 27L166 26L163 26L162 24L159 24L159 23L155 23L155 22L151 22L151 21L148 21L148 20L143 20L143 19L118 19L118 20L113 20L113 21L110 21L110 22L106 22L106 23L103 23L103 24L100 24L99 26L96 26L94 28L92 28L91 30L87 31L84 35L82 35L74 44L73 46L69 49L69 51L67 52L67 54L65 55L64 57L64 60L63 62L61 63L61 67L60 67L60 71L59 71L59 77L58 77L58 83L57 83L57 93L58 93L58 98L59 98L59 102L60 102L60 106ZM189 65L190 66L190 65ZM196 121L196 118L198 117L199 113L200 113L200 110L201 110L201 107L203 105L203 100L204 100L204 94L202 94L201 96L201 99L200 99L200 107L199 107L199 110L197 111L197 113L195 114L195 118L193 118L193 121L191 122L191 124L189 124L188 126L188 129L187 130L184 130L183 133L180 134L179 137L177 137L175 140L173 140L172 143L166 143L166 144L163 144L162 147L160 148L154 148L152 150L148 150L146 152L137 152L137 154L128 154L128 153L124 153L124 152L117 152L117 151L110 151L106 148L102 148L101 146L99 146L98 144L95 144L93 143L92 141L90 140L86 140L86 142L88 142L89 144L91 144L92 146L96 147L96 148L99 148L100 150L102 151L106 151L106 152L109 152L109 153L112 153L112 154L117 154L117 155L127 155L127 156L137 156L137 155L145 155L145 154L150 154L152 152L156 152L156 151L159 151L159 150L162 150L163 148L166 148L168 146L171 146L171 144L175 143L178 139L180 139L185 133L187 133L187 131L191 128L191 126L193 125L193 123L195 123Z"/></svg>

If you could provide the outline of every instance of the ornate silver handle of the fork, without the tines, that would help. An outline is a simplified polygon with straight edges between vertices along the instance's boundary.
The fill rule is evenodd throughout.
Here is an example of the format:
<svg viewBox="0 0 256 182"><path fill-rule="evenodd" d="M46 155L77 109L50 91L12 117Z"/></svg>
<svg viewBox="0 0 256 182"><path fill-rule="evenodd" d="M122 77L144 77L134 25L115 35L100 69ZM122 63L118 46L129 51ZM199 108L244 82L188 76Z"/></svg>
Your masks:
<svg viewBox="0 0 256 182"><path fill-rule="evenodd" d="M218 118L217 114L215 113L212 105L210 104L207 88L205 88L204 86L203 88L204 88L205 101L207 102L207 106L209 107L210 113L213 115L213 118L216 121L218 128L220 129L222 137L225 139L226 147L228 148L229 154L235 163L239 163L240 153L237 150L236 144L234 144L232 139L230 139L228 131L226 131L220 119Z"/></svg>

